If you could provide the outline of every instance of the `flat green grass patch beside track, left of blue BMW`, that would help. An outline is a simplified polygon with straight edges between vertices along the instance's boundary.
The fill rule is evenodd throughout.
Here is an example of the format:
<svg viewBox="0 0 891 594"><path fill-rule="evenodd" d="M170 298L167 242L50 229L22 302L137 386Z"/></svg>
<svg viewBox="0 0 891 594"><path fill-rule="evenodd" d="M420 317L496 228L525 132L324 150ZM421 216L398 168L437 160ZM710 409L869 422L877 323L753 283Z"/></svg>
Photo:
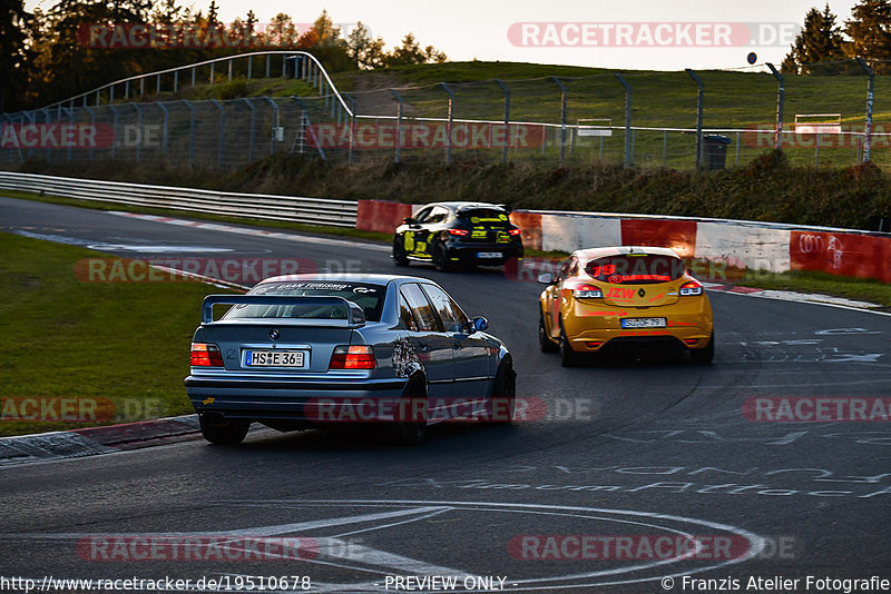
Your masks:
<svg viewBox="0 0 891 594"><path fill-rule="evenodd" d="M109 422L187 414L192 333L205 295L197 283L82 283L75 264L98 251L0 234L0 412L9 398L80 398L115 408ZM12 400L20 402L20 400ZM26 413L30 409L26 409ZM102 423L0 422L0 435Z"/></svg>

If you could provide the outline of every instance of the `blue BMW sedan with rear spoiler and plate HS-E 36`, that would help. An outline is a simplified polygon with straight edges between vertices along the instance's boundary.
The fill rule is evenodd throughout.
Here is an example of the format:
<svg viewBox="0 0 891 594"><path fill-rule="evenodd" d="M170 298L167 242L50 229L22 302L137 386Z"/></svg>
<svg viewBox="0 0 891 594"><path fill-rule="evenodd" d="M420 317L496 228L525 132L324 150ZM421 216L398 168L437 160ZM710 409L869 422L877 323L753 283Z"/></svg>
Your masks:
<svg viewBox="0 0 891 594"><path fill-rule="evenodd" d="M216 319L215 305L228 306ZM186 393L214 444L241 443L253 422L283 432L378 423L418 444L449 418L511 422L512 359L487 328L424 278L267 278L204 299Z"/></svg>

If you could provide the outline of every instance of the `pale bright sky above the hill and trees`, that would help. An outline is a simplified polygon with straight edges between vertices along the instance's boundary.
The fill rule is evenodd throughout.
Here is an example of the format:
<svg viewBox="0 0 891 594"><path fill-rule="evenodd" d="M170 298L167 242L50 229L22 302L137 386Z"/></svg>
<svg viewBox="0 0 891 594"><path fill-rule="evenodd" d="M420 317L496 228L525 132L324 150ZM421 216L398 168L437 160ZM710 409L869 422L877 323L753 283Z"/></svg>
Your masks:
<svg viewBox="0 0 891 594"><path fill-rule="evenodd" d="M27 6L47 9L53 3L55 0L29 0ZM192 2L180 0L180 3ZM278 12L286 12L298 23L312 22L326 9L335 23L362 21L374 37L383 37L388 47L398 44L411 31L422 46L434 46L451 61L476 58L623 70L681 70L745 69L750 52L756 53L756 63L779 66L804 14L812 7L822 9L825 1L253 0L247 3L217 0L217 3L224 22L244 17L248 9L254 10L261 22L268 22ZM829 6L843 26L854 3L854 0L833 0ZM195 0L192 6L206 13L207 4L209 0ZM689 47L691 40L696 42L697 27L698 43ZM620 31L625 36L619 38ZM585 39L588 43L580 44ZM605 42L609 42L608 47Z"/></svg>

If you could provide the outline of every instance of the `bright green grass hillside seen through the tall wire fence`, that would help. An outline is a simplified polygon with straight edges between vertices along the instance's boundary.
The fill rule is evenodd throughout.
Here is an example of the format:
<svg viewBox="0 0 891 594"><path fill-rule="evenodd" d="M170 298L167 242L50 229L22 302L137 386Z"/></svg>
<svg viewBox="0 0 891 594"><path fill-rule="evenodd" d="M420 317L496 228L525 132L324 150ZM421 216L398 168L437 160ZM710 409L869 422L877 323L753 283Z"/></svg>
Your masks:
<svg viewBox="0 0 891 594"><path fill-rule="evenodd" d="M272 69L281 72L281 68ZM254 73L263 75L257 67ZM523 62L446 62L414 65L374 71L347 71L332 75L342 91L353 92L359 99L360 113L395 115L396 102L389 88L402 88L405 117L446 117L448 95L440 82L454 91L454 118L501 121L505 95L495 83L502 80L510 89L511 120L560 123L560 89L551 77L558 77L567 88L567 123L584 119L606 119L613 126L625 123L625 89L615 70L575 66ZM652 128L696 127L697 87L684 71L626 70L621 75L631 87L631 125ZM705 128L762 128L772 129L776 115L776 80L767 72L705 70L698 72L704 82ZM825 75L785 77L785 129L794 129L796 113L839 113L843 125L862 129L865 122L866 79L856 75ZM169 99L235 99L238 97L311 98L319 91L307 82L281 78L253 78L237 76L232 81L217 72L216 85L180 86L177 93L163 92L146 100ZM206 76L205 76L206 79ZM198 81L200 82L200 77ZM185 82L185 80L183 81ZM891 78L877 77L873 120L875 131L891 128ZM372 108L363 106L374 106ZM371 109L371 111L368 111ZM313 112L314 121L327 121L325 109ZM558 158L559 129L548 128L544 151L539 148L520 149L515 158L546 160ZM744 164L762 155L772 146L771 135L756 139L754 135L731 133L727 149L728 165ZM813 141L813 138L806 138ZM820 164L823 167L850 166L858 161L855 140L844 147L826 146L823 140ZM597 160L621 162L625 137L621 130L604 139L603 149L597 138L579 138L571 142L565 156L567 162L586 164ZM634 161L644 167L691 168L695 156L695 135L638 130L634 135ZM603 150L603 159L601 159ZM423 150L407 151L421 155ZM665 154L665 155L664 155ZM499 150L479 151L480 156L498 160ZM810 146L787 148L791 165L813 165L815 150ZM888 137L873 138L872 161L891 165L891 141Z"/></svg>

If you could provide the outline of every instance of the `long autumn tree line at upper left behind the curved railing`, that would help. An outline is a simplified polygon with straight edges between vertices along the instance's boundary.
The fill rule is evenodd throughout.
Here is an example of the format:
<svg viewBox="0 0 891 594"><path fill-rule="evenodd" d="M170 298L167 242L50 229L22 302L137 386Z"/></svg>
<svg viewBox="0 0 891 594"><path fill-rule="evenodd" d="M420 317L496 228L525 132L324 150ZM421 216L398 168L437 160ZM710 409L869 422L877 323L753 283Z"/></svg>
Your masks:
<svg viewBox="0 0 891 594"><path fill-rule="evenodd" d="M206 13L177 0L57 0L33 12L25 0L0 4L0 113L42 107L141 72L260 49L310 51L334 72L447 60L412 33L386 51L368 26L356 22L342 31L326 11L300 30L286 13L261 27L253 10L224 23L216 0Z"/></svg>

